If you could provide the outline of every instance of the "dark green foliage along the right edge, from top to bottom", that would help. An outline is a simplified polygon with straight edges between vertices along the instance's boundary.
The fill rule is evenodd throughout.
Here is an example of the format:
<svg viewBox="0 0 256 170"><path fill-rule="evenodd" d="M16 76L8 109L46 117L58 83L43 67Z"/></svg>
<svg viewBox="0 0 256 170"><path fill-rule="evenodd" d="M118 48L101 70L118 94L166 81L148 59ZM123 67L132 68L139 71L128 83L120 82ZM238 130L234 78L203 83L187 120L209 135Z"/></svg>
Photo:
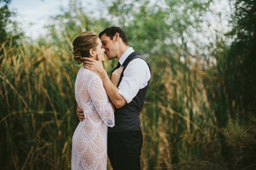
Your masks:
<svg viewBox="0 0 256 170"><path fill-rule="evenodd" d="M215 83L222 87L215 102L223 106L222 155L230 169L255 169L256 151L256 1L237 0L232 16L235 37L230 50L218 58ZM221 81L219 81L221 80ZM217 90L217 89L216 89ZM221 96L218 96L221 95ZM225 100L223 95L226 96ZM225 140L224 140L225 139Z"/></svg>

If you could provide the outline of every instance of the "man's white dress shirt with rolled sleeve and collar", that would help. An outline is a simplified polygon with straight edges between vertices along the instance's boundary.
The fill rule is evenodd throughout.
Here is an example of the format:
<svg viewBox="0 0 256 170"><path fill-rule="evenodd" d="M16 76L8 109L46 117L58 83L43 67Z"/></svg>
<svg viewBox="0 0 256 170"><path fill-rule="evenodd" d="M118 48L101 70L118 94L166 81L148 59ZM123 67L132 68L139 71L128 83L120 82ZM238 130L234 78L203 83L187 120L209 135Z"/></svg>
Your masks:
<svg viewBox="0 0 256 170"><path fill-rule="evenodd" d="M121 66L132 52L134 52L132 47L124 52L118 60ZM147 63L139 58L133 59L124 70L124 76L118 86L118 93L124 97L127 103L130 103L139 90L147 86L150 77Z"/></svg>

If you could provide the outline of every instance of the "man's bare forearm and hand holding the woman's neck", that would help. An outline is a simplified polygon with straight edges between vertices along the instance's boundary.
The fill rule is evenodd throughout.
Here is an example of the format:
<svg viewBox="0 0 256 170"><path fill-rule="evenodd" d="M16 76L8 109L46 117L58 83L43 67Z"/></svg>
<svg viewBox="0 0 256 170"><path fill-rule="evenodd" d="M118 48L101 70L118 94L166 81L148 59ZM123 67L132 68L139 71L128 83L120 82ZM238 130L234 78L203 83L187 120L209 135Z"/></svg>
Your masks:
<svg viewBox="0 0 256 170"><path fill-rule="evenodd" d="M99 75L103 82L103 86L108 94L109 99L116 106L116 108L123 107L127 102L123 96L118 93L118 88L111 82L107 72L104 70L101 59L97 56L98 60L91 58L83 58L83 67L95 72Z"/></svg>

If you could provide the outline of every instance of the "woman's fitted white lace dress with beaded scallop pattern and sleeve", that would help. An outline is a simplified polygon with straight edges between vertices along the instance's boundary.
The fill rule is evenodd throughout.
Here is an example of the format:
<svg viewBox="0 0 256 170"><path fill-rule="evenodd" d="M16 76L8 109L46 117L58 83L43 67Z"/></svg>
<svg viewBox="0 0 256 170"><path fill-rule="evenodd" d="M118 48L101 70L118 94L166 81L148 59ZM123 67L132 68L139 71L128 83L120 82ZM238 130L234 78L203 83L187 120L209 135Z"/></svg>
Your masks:
<svg viewBox="0 0 256 170"><path fill-rule="evenodd" d="M81 67L75 81L75 97L84 120L72 139L72 170L107 169L107 133L114 126L114 112L96 73Z"/></svg>

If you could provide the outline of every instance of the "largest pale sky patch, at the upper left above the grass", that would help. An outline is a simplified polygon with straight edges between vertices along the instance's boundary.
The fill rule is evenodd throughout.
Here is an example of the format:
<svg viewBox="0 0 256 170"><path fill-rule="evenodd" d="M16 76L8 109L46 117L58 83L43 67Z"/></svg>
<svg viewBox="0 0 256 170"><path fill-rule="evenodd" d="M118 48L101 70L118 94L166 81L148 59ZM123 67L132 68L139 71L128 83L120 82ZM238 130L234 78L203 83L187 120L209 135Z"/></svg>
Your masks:
<svg viewBox="0 0 256 170"><path fill-rule="evenodd" d="M60 7L67 7L69 0L12 0L9 8L15 11L14 20L20 22L20 26L27 36L36 39L40 34L45 35L44 25L49 16L61 13Z"/></svg>

